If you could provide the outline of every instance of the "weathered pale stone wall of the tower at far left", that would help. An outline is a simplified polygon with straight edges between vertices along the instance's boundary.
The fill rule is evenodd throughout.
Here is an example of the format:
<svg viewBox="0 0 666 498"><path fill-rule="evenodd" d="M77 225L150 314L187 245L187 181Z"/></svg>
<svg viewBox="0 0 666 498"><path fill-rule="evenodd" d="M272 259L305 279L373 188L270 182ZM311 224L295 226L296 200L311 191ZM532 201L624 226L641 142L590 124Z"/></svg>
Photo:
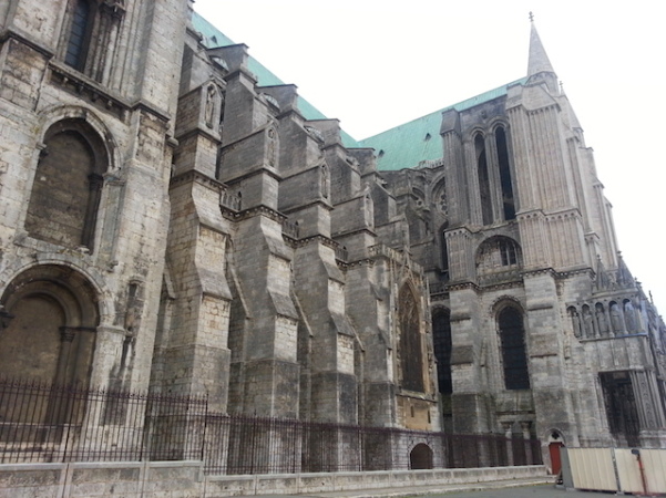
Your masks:
<svg viewBox="0 0 666 498"><path fill-rule="evenodd" d="M80 321L68 314L64 323L74 336L82 326L94 330L94 353L82 366L88 372L83 375L85 382L147 388L168 225L170 117L175 114L176 97L173 81L180 73L186 4L173 0L153 9L143 9L141 2L126 6L120 12L120 24L110 28L114 42L91 48L86 61L90 65L83 72L63 63L70 15L65 4L23 0L16 2L4 19L6 56L0 66L1 164L7 165L0 186L2 301L11 299L7 286L24 281L27 270L37 281L51 280L54 295L70 293L74 300L91 299L96 308L94 317ZM156 24L162 28L150 37L144 50L127 51L129 46L141 45L143 37L152 31L150 27ZM166 53L168 58L164 59ZM163 59L157 62L155 58ZM130 72L122 77L106 72L104 59L115 59L116 68ZM95 69L95 64L102 65ZM139 101L142 104L135 105ZM81 227L63 243L62 235L35 231L28 217L31 201L35 209L52 214L70 212L64 207L55 209L53 203L74 201L66 195L44 195L38 187L55 179L64 193L66 183L73 181L60 169L38 168L50 153L43 146L47 132L65 122L78 123L89 143L100 144L92 151L99 205L89 203L84 231L91 234L82 237L80 245L75 239ZM105 163L94 147L103 149ZM58 159L58 149L52 152ZM63 158L75 159L66 156ZM57 178L49 178L53 175ZM70 186L71 191L89 188L76 181ZM45 190L57 187L50 185ZM41 203L40 198L49 200ZM62 224L71 226L66 216L58 218L61 228ZM64 228L59 231L68 232ZM88 289L72 289L74 279L50 276L48 269L54 267L61 273L75 273ZM40 289L35 287L32 292L39 293ZM85 347L81 351L85 354ZM21 374L20 370L14 372Z"/></svg>

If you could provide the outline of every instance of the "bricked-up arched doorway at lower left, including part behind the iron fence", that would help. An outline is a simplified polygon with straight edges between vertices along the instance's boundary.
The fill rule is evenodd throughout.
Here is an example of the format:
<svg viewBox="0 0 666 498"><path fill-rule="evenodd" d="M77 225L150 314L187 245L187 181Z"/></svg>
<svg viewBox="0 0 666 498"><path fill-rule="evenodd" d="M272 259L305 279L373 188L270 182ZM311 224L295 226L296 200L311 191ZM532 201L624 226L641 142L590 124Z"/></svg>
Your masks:
<svg viewBox="0 0 666 498"><path fill-rule="evenodd" d="M96 291L72 268L44 264L14 278L0 304L13 317L0 330L0 378L17 386L2 398L0 419L41 427L34 440L58 438L48 427L83 416L82 402L63 403L66 390L58 385L88 387L100 315Z"/></svg>

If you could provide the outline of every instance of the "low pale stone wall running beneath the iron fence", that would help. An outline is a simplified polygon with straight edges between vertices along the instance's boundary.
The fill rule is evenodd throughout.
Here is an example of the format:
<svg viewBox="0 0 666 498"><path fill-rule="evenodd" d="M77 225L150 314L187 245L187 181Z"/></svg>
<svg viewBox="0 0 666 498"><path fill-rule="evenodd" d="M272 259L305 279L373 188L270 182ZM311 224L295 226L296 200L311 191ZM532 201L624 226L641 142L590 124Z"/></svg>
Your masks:
<svg viewBox="0 0 666 498"><path fill-rule="evenodd" d="M484 483L545 476L543 466L205 476L199 461L0 465L0 497L227 497Z"/></svg>

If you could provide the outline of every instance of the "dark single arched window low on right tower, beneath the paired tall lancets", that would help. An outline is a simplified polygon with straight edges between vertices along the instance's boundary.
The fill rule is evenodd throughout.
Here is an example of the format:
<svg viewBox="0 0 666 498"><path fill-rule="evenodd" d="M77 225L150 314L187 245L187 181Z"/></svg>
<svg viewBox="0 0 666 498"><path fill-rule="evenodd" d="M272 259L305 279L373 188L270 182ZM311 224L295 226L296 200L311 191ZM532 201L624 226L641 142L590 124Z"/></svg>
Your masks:
<svg viewBox="0 0 666 498"><path fill-rule="evenodd" d="M498 314L504 385L508 390L529 390L530 373L525 354L523 315L514 307L506 307Z"/></svg>

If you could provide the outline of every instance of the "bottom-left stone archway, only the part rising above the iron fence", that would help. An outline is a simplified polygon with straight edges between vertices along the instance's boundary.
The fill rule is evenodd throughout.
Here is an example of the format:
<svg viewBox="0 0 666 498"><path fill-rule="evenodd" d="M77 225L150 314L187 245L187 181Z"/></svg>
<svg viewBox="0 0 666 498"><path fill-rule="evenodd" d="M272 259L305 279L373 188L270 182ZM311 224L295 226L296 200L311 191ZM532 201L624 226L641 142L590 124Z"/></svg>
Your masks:
<svg viewBox="0 0 666 498"><path fill-rule="evenodd" d="M100 322L98 291L75 269L31 267L0 303L14 318L0 334L0 377L88 384Z"/></svg>

